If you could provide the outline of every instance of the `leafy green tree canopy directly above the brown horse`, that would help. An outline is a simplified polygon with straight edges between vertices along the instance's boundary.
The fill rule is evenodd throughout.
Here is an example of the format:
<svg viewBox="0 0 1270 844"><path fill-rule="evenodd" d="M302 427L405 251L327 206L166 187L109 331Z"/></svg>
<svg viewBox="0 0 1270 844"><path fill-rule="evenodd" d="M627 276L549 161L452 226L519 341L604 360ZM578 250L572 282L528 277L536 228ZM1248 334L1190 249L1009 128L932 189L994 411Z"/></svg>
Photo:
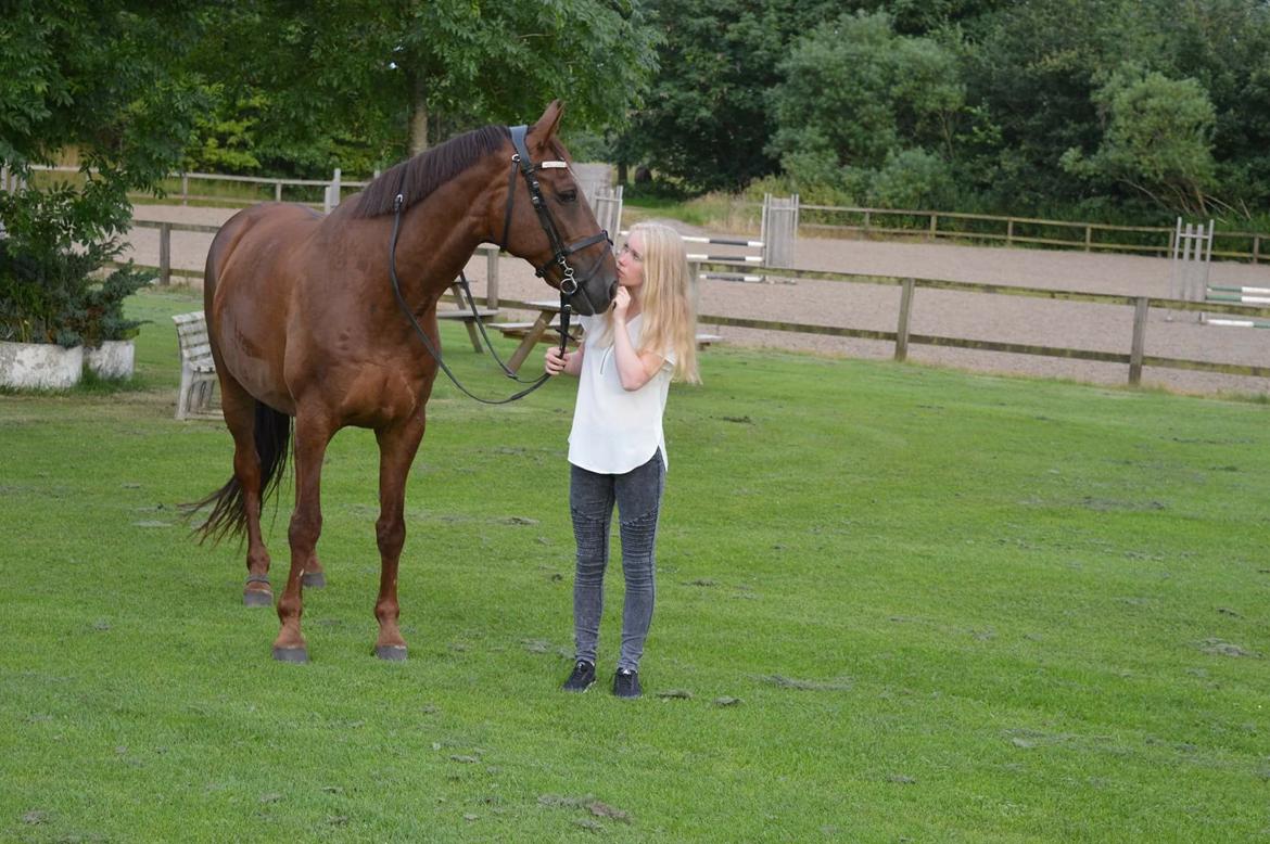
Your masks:
<svg viewBox="0 0 1270 844"><path fill-rule="evenodd" d="M387 164L554 98L574 127L621 126L657 62L639 0L245 0L206 16L194 66L260 103L258 159L309 170L349 169L349 150Z"/></svg>

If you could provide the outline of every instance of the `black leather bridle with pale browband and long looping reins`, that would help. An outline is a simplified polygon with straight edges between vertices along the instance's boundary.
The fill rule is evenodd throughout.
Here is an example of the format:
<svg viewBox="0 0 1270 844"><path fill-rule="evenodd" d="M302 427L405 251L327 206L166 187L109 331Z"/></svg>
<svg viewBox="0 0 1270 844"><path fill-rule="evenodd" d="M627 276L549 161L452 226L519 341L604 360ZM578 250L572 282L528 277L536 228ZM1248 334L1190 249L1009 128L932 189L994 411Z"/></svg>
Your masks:
<svg viewBox="0 0 1270 844"><path fill-rule="evenodd" d="M607 231L599 230L597 234L591 235L589 237L575 240L572 244L564 242L564 239L560 237L560 230L556 228L555 218L551 216L551 211L547 208L546 199L544 199L542 197L542 185L538 183L537 178L533 174L535 170L568 168L569 165L564 161L544 161L538 165L535 165L533 157L530 155L530 150L525 143L525 136L528 133L528 127L513 126L511 127L511 133L512 133L512 146L514 147L516 151L512 154L512 173L507 183L507 212L503 216L503 237L499 240L498 246L500 250L507 249L507 236L512 226L512 208L516 203L516 174L519 173L521 175L525 176L526 187L530 190L530 203L533 206L533 211L538 216L538 223L542 226L542 231L546 234L547 241L550 241L551 244L551 253L552 253L551 259L545 264L542 264L541 267L535 267L533 272L538 278L545 279L547 272L552 267L560 268L560 354L564 355L566 345L569 343L569 312L570 312L569 297L578 293L579 291L584 297L587 296L585 287L578 283L574 269L569 264L569 256L582 251L583 249L587 249L588 246L593 246L594 244L598 244L601 241L608 241L610 246L612 245L613 241L610 240ZM476 302L475 300L472 300L471 288L467 286L467 277L464 273L460 272L458 282L460 286L462 287L462 292L467 300L467 303L471 306L472 321L476 324L476 327L480 329L480 335L485 340L485 348L489 349L490 355L493 355L494 360L498 362L498 366L503 369L507 377L512 378L518 383L530 385L525 390L521 390L516 395L509 396L507 399L499 399L499 400L481 399L480 396L467 390L467 387L465 387L462 383L460 383L458 378L455 377L455 373L451 372L450 367L446 366L446 362L441 358L441 350L432 344L432 340L428 338L427 333L419 326L419 321L414 319L414 311L410 310L410 306L406 305L405 297L401 296L401 282L400 279L398 279L396 274L396 242L398 242L398 235L400 234L401 230L401 211L403 206L405 204L405 197L401 193L404 181L405 181L405 169L401 170L401 179L398 181L398 193L396 197L392 199L392 237L389 241L389 275L392 279L392 293L396 296L396 301L398 305L401 307L401 312L405 313L406 319L409 319L410 325L414 327L415 334L419 335L419 339L423 340L424 348L428 349L428 354L432 355L432 358L437 362L437 366L441 367L442 372L446 373L446 377L448 377L453 382L453 385L458 387L458 390L466 393L469 397L475 399L476 401L485 405L505 405L508 402L516 401L517 399L523 399L525 396L530 395L531 392L541 387L544 383L546 383L547 378L550 378L551 376L544 372L541 376L537 377L537 379L527 382L523 381L519 376L517 376L512 369L509 369L505 363L503 363L503 359L498 357L497 352L494 352L494 345L490 343L489 335L485 333L485 324L481 321L476 311ZM596 261L597 268L599 267L599 264L601 261ZM594 275L594 273L596 270L593 269L592 275ZM591 280L591 277L588 277L584 280ZM591 301L589 297L587 297L587 300L588 302ZM593 307L592 310L596 308Z"/></svg>

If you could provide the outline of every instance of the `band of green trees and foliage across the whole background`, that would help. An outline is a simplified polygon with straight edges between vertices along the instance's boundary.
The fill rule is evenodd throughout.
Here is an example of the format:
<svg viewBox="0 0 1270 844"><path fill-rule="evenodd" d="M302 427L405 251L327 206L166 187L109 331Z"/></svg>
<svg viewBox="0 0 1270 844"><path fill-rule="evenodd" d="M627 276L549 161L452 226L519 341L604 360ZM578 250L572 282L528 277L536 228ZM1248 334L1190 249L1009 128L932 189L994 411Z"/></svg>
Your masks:
<svg viewBox="0 0 1270 844"><path fill-rule="evenodd" d="M1256 0L6 0L0 161L84 202L178 169L368 175L551 98L640 190L1170 223L1265 217ZM0 207L0 214L8 212Z"/></svg>

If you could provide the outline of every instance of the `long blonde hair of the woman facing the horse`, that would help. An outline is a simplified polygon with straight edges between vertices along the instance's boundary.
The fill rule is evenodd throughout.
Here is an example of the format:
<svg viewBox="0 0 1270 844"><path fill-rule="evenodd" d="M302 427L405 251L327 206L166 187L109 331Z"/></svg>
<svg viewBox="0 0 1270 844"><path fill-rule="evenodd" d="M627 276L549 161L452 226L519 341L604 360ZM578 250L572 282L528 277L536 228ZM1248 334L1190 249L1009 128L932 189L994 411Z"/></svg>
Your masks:
<svg viewBox="0 0 1270 844"><path fill-rule="evenodd" d="M631 226L630 236L640 232L644 240L644 283L640 286L640 349L674 352L673 377L688 383L701 383L697 374L697 313L692 302L692 277L683 237L669 226L641 222ZM613 312L605 315L605 333L612 338Z"/></svg>

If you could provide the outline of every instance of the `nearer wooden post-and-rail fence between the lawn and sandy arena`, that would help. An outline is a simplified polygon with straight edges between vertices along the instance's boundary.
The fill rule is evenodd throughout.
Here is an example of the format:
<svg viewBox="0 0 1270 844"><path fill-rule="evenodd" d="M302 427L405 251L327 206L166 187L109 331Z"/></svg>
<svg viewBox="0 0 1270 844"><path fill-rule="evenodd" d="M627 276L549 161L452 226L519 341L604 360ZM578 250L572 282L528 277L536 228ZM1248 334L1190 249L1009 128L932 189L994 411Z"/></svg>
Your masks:
<svg viewBox="0 0 1270 844"><path fill-rule="evenodd" d="M215 232L216 226L192 226L183 223L133 221L133 226L141 228L159 230L159 255L161 267L142 267L160 273L160 283L170 283L173 275L202 278L202 270L182 270L171 268L171 232ZM498 300L498 260L499 251L495 246L481 246L488 261L489 298L488 307L512 310L538 310L528 302L517 300ZM702 267L725 268L728 264L716 261L702 261ZM792 331L798 334L818 334L838 338L860 338L866 340L881 340L894 343L894 357L904 360L908 357L911 345L936 345L958 349L975 349L979 352L1005 352L1010 354L1030 354L1046 358L1068 358L1076 360L1097 360L1102 363L1119 363L1129 368L1128 382L1138 385L1142 382L1142 371L1146 367L1160 367L1165 369L1190 369L1196 372L1213 372L1229 376L1251 376L1257 378L1270 378L1270 366L1259 367L1241 363L1219 363L1212 360L1189 360L1184 358L1162 358L1144 354L1147 339L1147 313L1149 308L1163 308L1170 311L1190 311L1206 313L1234 313L1248 319L1270 319L1270 307L1248 307L1246 305L1233 305L1223 302L1186 302L1181 300L1157 298L1148 296L1119 296L1114 293L1085 293L1080 291L1054 291L1036 287L1013 287L1007 284L978 284L972 282L949 282L933 278L886 278L878 275L861 275L856 273L831 273L819 270L775 269L759 267L756 273L779 275L782 278L805 278L848 284L884 284L898 286L900 288L899 311L894 331L876 331L870 329L852 329L845 326L815 325L808 322L779 322L773 320L752 320L748 317L724 316L716 313L701 313L698 321L706 325L730 325L743 329L758 329L763 331ZM1093 349L1071 349L1063 346L1029 345L1020 343L998 343L994 340L975 340L968 338L952 338L941 335L913 334L909 329L913 312L913 300L919 289L956 291L963 293L978 293L986 296L1022 296L1063 302L1092 302L1096 305L1129 306L1134 308L1133 331L1126 338L1126 350L1100 352Z"/></svg>

